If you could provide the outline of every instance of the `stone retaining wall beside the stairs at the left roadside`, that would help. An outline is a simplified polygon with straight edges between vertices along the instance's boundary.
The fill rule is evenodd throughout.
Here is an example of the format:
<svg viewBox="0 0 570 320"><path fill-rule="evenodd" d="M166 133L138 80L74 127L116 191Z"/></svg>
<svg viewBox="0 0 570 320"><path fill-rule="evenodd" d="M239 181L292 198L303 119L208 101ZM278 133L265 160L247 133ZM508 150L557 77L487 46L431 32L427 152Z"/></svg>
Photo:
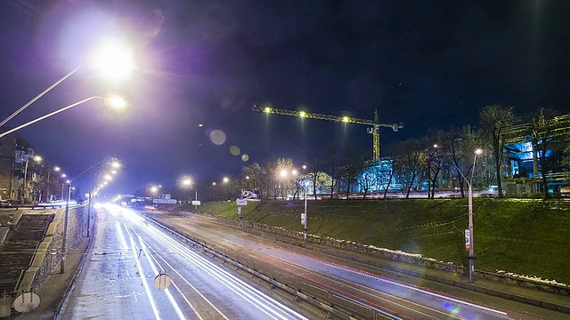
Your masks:
<svg viewBox="0 0 570 320"><path fill-rule="evenodd" d="M45 233L44 241L39 244L37 254L30 268L24 274L20 291L37 291L45 280L54 272L61 261L61 245L63 242L63 221L65 208L55 211L55 218ZM86 235L87 208L85 205L69 208L67 249L77 248L81 238Z"/></svg>

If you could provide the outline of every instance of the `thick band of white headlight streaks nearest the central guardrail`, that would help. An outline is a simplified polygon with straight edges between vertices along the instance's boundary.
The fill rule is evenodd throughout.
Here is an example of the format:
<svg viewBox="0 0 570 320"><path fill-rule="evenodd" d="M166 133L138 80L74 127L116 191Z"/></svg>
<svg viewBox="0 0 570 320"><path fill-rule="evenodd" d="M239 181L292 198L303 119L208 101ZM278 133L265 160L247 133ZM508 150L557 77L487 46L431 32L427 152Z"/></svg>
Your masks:
<svg viewBox="0 0 570 320"><path fill-rule="evenodd" d="M241 281L238 277L233 276L223 268L216 266L216 264L212 263L211 261L204 259L196 252L192 252L182 244L178 244L173 238L164 235L162 232L156 230L156 228L154 228L154 230L153 228L149 228L149 231L160 238L163 243L169 245L176 252L179 252L181 256L193 262L197 267L202 269L208 275L214 277L220 283L224 284L228 289L232 290L232 292L235 292L244 300L249 301L254 307L264 312L265 315L271 316L273 319L289 318L279 314L279 312L281 312L296 316L296 319L306 319L305 316L302 316L296 311L281 305L281 303L268 297L265 295L265 293L257 292L256 289L254 289L249 284ZM253 303L251 301L255 301L256 303Z"/></svg>

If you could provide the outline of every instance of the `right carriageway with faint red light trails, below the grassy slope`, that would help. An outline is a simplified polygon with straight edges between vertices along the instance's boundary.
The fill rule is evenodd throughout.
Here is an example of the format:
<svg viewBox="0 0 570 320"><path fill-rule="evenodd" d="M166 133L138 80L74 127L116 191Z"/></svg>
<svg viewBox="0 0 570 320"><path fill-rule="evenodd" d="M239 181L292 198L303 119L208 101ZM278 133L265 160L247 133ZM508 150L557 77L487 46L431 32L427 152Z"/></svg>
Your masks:
<svg viewBox="0 0 570 320"><path fill-rule="evenodd" d="M386 276L296 246L226 228L216 219L179 212L151 214L153 219L183 230L241 260L267 276L327 298L325 292L358 303L379 315L401 319L566 319L567 315L543 308L470 292L444 284L431 289L417 279ZM436 289L433 289L436 288ZM339 303L337 303L339 304ZM356 315L356 314L355 314Z"/></svg>

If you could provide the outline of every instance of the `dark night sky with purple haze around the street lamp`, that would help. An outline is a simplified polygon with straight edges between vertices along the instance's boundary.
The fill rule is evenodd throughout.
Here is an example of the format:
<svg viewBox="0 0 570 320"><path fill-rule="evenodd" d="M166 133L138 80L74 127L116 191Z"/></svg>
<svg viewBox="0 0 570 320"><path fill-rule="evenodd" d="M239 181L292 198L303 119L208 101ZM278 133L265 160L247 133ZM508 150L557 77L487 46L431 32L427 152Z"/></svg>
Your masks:
<svg viewBox="0 0 570 320"><path fill-rule="evenodd" d="M20 131L70 176L117 156L125 168L109 190L132 193L182 174L221 180L279 156L304 164L333 147L371 154L365 126L303 124L253 104L368 119L378 108L380 122L405 125L382 132L386 155L431 128L476 125L487 104L570 112L569 14L566 0L4 0L0 117L112 37L137 58L129 81L81 69L7 124L125 95L125 111L94 100Z"/></svg>

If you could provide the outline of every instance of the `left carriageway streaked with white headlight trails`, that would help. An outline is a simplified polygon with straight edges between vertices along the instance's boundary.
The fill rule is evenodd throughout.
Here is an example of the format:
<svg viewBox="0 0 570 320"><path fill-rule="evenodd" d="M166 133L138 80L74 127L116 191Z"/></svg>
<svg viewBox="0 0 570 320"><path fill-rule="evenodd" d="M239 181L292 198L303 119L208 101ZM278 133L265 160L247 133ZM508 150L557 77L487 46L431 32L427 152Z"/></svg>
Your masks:
<svg viewBox="0 0 570 320"><path fill-rule="evenodd" d="M98 213L86 254L62 319L322 318L127 209ZM164 273L172 283L159 290Z"/></svg>

